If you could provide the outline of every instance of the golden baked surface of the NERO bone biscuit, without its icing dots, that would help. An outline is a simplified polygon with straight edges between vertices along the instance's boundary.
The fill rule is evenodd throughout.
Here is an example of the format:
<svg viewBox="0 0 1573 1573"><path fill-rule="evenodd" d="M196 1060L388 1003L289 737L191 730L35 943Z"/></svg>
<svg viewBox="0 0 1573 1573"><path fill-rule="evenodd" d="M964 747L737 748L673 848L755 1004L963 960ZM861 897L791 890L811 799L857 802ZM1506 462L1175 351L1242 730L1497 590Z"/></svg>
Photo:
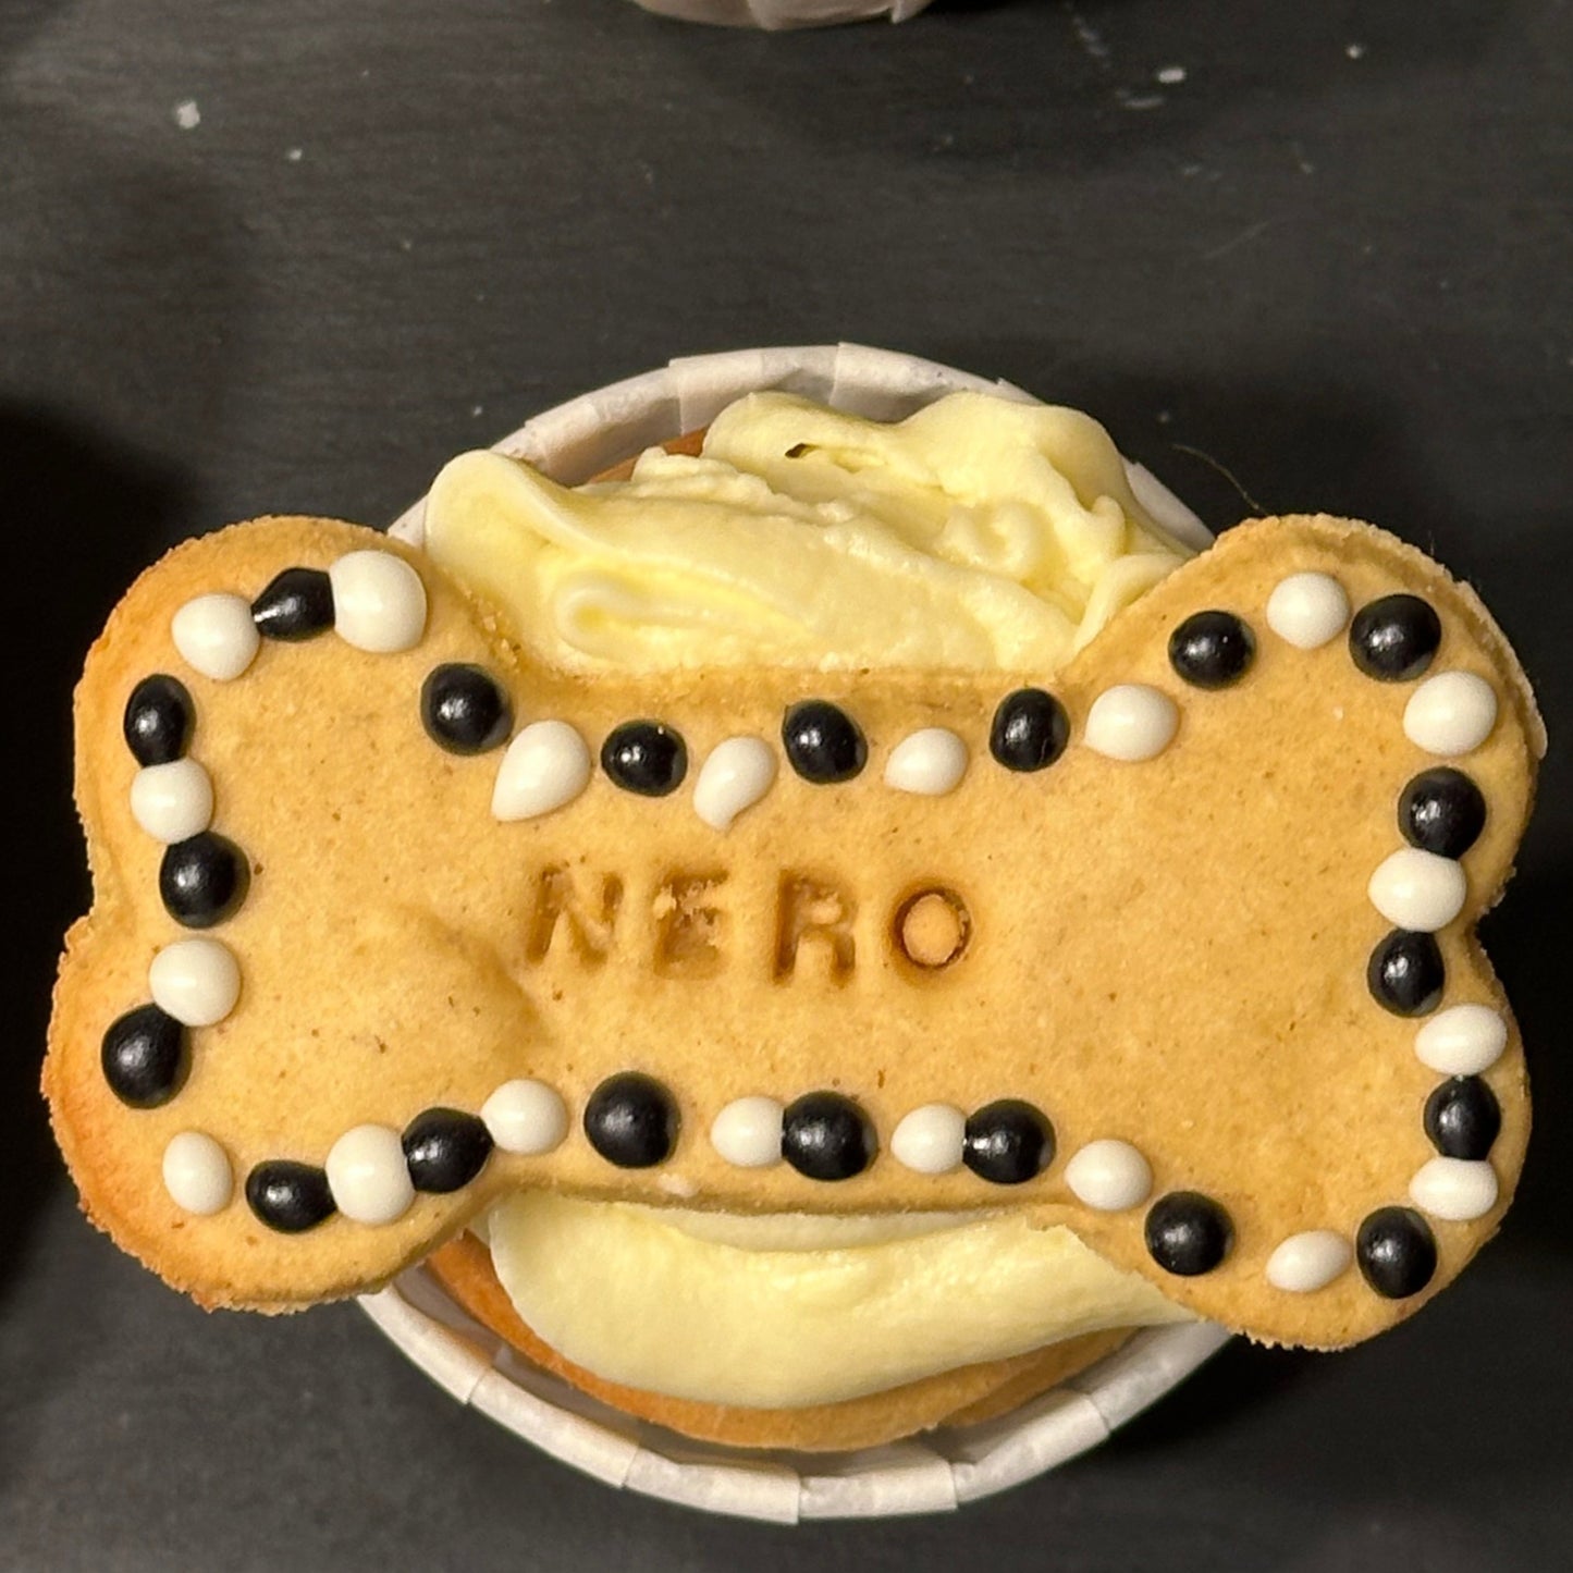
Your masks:
<svg viewBox="0 0 1573 1573"><path fill-rule="evenodd" d="M175 648L171 617L193 598L250 601L285 568L357 551L420 574L426 618L411 648L368 653L332 631L264 639L227 681ZM1424 601L1439 623L1424 673L1369 676L1345 631L1309 650L1280 637L1268 604L1296 574L1334 580L1356 612L1398 593ZM1247 669L1227 686L1199 686L1170 659L1170 637L1202 610L1249 632ZM571 801L500 823L502 744L455 755L423 728L422 686L442 664L481 667L507 689L516 731L565 722L591 760L620 724L659 720L683 738L686 779L653 798L595 766ZM244 853L250 878L238 911L201 933L238 963L236 1004L189 1029L189 1074L171 1096L129 1107L104 1074L105 1033L148 1002L160 952L192 938L160 903L165 851L131 812L138 761L121 717L153 673L190 695L189 757L212 782L211 829ZM1483 739L1444 758L1405 717L1447 673L1480 680L1494 709ZM483 609L374 532L271 519L187 543L115 612L77 695L94 908L68 936L46 1090L88 1211L206 1304L289 1309L384 1282L521 1184L733 1211L1013 1205L1070 1224L1252 1337L1334 1346L1381 1331L1491 1235L1527 1139L1516 1027L1472 939L1510 870L1543 750L1512 653L1474 595L1422 554L1367 525L1293 518L1230 530L1044 684L1070 741L1022 772L996 761L989 731L1000 700L1032 683L769 670L576 680L524 662ZM1150 742L1131 687L1173 706L1172 736L1140 760L1111 757L1122 744L1109 741L1109 706L1095 713L1120 691L1115 731ZM1447 692L1428 694L1420 711L1447 709ZM783 711L807 698L854 719L867 764L824 785L782 760L728 829L703 823L694 782L717 744L750 736L780 755ZM960 782L938 796L887 785L897 746L931 728L964 744ZM1411 730L1435 744L1435 727ZM1398 1015L1369 985L1395 923L1367 887L1405 848L1406 785L1435 768L1468 774L1488 812L1447 859L1463 904L1435 933L1439 997ZM922 898L923 933L903 949ZM956 917L944 955L934 898ZM1402 898L1409 911L1414 892ZM1417 1037L1458 1005L1483 1007L1505 1032L1463 1078L1471 1107L1488 1096L1501 1129L1486 1156L1438 1167L1447 1155L1425 1111L1449 1078ZM1444 1060L1457 1052L1444 1043ZM640 1169L609 1162L580 1125L595 1090L628 1071L665 1089L678 1118L670 1155ZM286 1233L249 1205L258 1166L321 1172L346 1133L407 1131L426 1111L473 1123L519 1079L554 1089L571 1114L551 1151L495 1148L456 1189L417 1189L387 1222L340 1210ZM735 1100L813 1092L853 1100L865 1122L873 1156L846 1178L744 1167L709 1140ZM1052 1125L1052 1161L1024 1183L966 1166L925 1173L892 1151L915 1109L999 1100ZM165 1150L184 1133L209 1137L231 1177L206 1214L165 1186ZM1107 1184L1084 1184L1093 1205L1073 1189L1074 1159L1095 1142L1140 1155L1150 1184L1136 1200L1111 1206ZM1392 1227L1383 1235L1373 1219ZM1337 1236L1345 1260L1359 1243L1361 1263L1317 1288L1276 1284L1274 1254L1313 1233ZM1414 1282L1425 1238L1435 1269Z"/></svg>

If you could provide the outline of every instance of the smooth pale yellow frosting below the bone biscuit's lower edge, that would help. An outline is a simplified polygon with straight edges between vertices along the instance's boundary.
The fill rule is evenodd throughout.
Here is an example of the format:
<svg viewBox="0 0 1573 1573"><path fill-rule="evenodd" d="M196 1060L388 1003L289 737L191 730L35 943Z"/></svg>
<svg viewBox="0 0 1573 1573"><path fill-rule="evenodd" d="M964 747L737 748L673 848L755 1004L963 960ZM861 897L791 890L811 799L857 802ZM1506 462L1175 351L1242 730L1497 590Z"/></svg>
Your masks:
<svg viewBox="0 0 1573 1573"><path fill-rule="evenodd" d="M747 1219L527 1192L492 1266L524 1321L598 1376L799 1408L1059 1339L1189 1320L1144 1277L1021 1213Z"/></svg>

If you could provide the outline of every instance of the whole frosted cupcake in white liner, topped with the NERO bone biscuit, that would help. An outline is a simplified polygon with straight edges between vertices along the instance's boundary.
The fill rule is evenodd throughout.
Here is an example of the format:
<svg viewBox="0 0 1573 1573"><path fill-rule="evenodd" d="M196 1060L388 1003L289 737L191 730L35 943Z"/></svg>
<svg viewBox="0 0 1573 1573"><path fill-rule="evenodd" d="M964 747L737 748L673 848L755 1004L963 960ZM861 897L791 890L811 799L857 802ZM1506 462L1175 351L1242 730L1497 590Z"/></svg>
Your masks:
<svg viewBox="0 0 1573 1573"><path fill-rule="evenodd" d="M1210 1323L1337 1346L1446 1284L1527 1131L1469 942L1542 741L1521 673L1380 532L1188 563L1093 423L999 404L1011 469L936 400L966 382L676 363L525 428L540 473L458 461L396 532L429 557L271 521L138 584L80 695L98 904L46 1070L90 1213L214 1304L440 1247L370 1309L450 1387L768 1516L983 1494ZM753 505L722 536L717 497ZM764 574L727 543L760 519ZM1087 1361L1166 1321L1104 1391ZM936 1424L906 1485L736 1463Z"/></svg>

